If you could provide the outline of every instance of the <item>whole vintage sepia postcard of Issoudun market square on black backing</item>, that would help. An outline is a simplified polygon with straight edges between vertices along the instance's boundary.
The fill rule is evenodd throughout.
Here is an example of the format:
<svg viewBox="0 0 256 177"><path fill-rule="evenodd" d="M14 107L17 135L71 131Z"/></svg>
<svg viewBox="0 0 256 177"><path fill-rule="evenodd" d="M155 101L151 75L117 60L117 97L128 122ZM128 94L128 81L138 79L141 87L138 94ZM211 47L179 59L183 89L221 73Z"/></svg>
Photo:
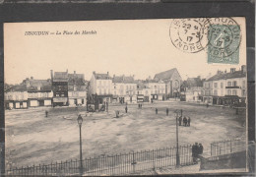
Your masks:
<svg viewBox="0 0 256 177"><path fill-rule="evenodd" d="M4 24L6 174L247 172L245 23Z"/></svg>

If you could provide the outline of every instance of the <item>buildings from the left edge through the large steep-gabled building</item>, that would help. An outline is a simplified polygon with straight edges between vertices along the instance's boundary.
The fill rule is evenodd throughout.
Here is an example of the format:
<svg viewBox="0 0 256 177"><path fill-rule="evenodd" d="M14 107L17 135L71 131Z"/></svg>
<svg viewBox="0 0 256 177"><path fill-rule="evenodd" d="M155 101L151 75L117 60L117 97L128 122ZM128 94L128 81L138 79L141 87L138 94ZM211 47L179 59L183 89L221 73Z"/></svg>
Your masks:
<svg viewBox="0 0 256 177"><path fill-rule="evenodd" d="M137 103L178 97L181 77L176 68L161 72L154 79L135 80L134 76L113 76L93 72L89 82L83 74L51 71L50 79L23 81L6 87L5 107L75 106L105 102Z"/></svg>

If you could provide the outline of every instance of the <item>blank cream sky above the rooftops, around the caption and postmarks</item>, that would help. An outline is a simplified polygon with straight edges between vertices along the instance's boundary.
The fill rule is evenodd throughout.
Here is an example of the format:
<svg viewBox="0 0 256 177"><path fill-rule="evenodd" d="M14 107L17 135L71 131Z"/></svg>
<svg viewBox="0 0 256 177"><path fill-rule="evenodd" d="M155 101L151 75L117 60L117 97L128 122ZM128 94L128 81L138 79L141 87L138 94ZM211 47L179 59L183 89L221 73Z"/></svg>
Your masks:
<svg viewBox="0 0 256 177"><path fill-rule="evenodd" d="M7 23L4 25L5 83L20 84L24 79L49 79L50 70L85 74L93 71L112 75L149 76L177 68L181 78L206 77L217 70L239 70L246 64L245 21L234 18L241 26L240 63L208 64L207 51L185 53L171 42L170 19L81 21L51 23ZM63 31L73 34L63 34ZM75 31L80 34L75 34ZM82 34L83 30L96 34ZM28 31L54 34L29 35ZM56 34L56 32L62 34Z"/></svg>

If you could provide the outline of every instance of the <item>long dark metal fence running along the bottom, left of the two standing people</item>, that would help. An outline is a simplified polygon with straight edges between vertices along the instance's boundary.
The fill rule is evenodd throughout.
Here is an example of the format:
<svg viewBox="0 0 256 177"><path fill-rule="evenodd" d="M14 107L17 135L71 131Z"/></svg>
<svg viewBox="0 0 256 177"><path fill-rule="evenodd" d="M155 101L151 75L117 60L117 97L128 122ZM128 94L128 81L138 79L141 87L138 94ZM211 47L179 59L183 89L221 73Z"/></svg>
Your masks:
<svg viewBox="0 0 256 177"><path fill-rule="evenodd" d="M176 165L177 148L142 150L83 159L83 173L88 176L127 175ZM180 165L193 164L192 146L179 147ZM78 175L80 160L42 164L7 170L7 175Z"/></svg>

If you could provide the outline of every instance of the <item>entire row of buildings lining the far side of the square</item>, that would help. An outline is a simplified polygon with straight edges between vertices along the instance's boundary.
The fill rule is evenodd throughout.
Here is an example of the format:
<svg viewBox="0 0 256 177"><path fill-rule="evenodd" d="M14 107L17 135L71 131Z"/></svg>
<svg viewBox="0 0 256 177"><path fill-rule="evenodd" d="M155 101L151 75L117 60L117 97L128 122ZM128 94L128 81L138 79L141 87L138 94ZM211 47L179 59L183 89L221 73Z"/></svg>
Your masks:
<svg viewBox="0 0 256 177"><path fill-rule="evenodd" d="M137 103L167 100L209 104L239 104L246 102L246 66L239 71L218 71L214 76L182 81L176 68L156 74L154 79L135 80L134 76L115 76L93 72L90 81L76 72L50 72L50 79L27 78L20 85L5 88L5 107L76 106L111 103Z"/></svg>

